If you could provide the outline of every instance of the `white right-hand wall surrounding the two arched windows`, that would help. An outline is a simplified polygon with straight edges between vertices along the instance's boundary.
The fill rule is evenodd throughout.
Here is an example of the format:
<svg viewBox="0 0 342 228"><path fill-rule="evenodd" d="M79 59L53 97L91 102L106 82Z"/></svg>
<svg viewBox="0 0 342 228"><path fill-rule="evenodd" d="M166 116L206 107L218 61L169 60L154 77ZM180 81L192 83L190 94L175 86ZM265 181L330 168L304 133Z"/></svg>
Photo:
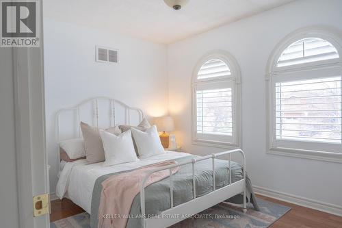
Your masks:
<svg viewBox="0 0 342 228"><path fill-rule="evenodd" d="M255 186L342 206L342 164L266 154L265 68L272 49L301 27L342 30L342 1L295 1L168 46L169 112L185 151L200 155L223 149L191 142L191 77L196 62L213 49L234 55L241 67L242 144Z"/></svg>

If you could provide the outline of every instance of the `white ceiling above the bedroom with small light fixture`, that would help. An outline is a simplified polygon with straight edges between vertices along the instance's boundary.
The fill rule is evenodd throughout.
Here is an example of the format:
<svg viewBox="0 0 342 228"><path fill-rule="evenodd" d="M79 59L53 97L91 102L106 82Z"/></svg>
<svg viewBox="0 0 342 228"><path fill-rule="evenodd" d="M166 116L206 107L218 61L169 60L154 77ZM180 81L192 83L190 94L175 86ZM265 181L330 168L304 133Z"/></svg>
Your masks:
<svg viewBox="0 0 342 228"><path fill-rule="evenodd" d="M163 0L45 0L44 16L171 43L293 0L190 0L179 11Z"/></svg>

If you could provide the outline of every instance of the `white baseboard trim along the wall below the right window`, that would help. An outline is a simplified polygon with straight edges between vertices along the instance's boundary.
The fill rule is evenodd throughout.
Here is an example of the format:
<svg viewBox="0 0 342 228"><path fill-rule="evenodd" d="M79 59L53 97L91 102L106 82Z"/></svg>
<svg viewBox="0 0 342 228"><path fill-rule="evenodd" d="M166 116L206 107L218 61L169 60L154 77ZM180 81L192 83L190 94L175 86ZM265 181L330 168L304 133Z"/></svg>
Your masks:
<svg viewBox="0 0 342 228"><path fill-rule="evenodd" d="M342 207L339 205L316 201L314 199L308 199L305 197L299 197L294 194L278 192L276 190L271 190L259 186L253 186L253 190L255 193L260 194L264 197L270 197L278 199L280 201L285 201L287 203L293 203L303 207L319 210L321 212L342 216Z"/></svg>

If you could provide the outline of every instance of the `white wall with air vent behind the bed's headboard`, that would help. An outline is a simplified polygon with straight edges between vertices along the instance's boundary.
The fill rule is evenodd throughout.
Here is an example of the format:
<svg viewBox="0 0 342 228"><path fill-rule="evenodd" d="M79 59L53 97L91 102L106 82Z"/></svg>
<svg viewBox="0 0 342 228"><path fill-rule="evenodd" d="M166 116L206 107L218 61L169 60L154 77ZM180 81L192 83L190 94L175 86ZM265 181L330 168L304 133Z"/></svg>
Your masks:
<svg viewBox="0 0 342 228"><path fill-rule="evenodd" d="M95 62L95 45L119 49L120 63ZM44 18L44 68L51 192L57 183L57 110L107 96L147 116L168 112L165 45Z"/></svg>

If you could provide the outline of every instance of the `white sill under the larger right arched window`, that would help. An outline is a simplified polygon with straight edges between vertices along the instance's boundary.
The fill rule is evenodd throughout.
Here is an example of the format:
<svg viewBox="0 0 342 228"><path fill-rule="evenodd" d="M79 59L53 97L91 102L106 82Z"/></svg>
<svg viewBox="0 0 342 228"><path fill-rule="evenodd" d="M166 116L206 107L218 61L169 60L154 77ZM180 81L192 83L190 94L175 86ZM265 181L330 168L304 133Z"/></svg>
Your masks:
<svg viewBox="0 0 342 228"><path fill-rule="evenodd" d="M267 151L268 154L283 155L287 157L300 157L311 160L319 160L324 162L337 162L342 163L342 153L330 153L323 151L308 151L301 149L289 148L271 148Z"/></svg>

